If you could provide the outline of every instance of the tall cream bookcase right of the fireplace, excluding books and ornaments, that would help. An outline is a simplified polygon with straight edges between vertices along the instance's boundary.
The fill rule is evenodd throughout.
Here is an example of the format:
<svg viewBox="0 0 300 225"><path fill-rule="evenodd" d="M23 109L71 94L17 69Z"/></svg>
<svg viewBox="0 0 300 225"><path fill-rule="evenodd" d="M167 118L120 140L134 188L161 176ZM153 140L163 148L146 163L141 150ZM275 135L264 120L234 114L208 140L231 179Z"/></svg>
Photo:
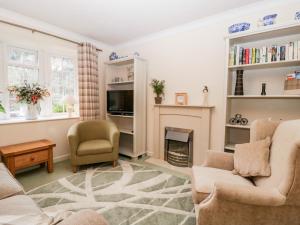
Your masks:
<svg viewBox="0 0 300 225"><path fill-rule="evenodd" d="M224 122L224 149L235 150L235 145L249 142L250 125L255 119L272 118L287 120L300 118L300 95L285 95L285 75L300 70L300 59L275 62L229 65L232 46L262 48L274 44L283 45L300 40L300 23L274 25L256 31L246 31L226 37L227 67ZM236 71L244 70L244 95L234 95ZM267 95L261 95L261 84L267 84ZM241 114L247 118L246 126L229 124L230 118Z"/></svg>

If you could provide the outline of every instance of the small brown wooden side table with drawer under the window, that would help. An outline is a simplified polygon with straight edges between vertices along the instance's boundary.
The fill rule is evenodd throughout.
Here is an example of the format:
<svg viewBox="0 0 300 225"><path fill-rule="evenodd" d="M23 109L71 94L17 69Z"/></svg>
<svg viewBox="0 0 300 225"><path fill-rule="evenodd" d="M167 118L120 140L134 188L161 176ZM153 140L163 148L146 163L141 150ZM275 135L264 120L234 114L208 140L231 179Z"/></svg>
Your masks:
<svg viewBox="0 0 300 225"><path fill-rule="evenodd" d="M15 175L19 169L47 163L48 173L53 172L53 148L50 140L38 140L0 147L0 154L6 167Z"/></svg>

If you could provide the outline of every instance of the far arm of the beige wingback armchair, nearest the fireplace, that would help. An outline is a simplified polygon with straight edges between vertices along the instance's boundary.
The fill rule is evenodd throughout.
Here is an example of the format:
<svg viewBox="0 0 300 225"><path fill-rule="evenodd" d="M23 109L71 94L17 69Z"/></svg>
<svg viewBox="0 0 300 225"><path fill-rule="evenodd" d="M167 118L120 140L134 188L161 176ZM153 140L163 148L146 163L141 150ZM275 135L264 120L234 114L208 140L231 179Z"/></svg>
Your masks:
<svg viewBox="0 0 300 225"><path fill-rule="evenodd" d="M206 159L202 166L218 168L223 170L233 170L233 154L227 152L217 152L208 150Z"/></svg>

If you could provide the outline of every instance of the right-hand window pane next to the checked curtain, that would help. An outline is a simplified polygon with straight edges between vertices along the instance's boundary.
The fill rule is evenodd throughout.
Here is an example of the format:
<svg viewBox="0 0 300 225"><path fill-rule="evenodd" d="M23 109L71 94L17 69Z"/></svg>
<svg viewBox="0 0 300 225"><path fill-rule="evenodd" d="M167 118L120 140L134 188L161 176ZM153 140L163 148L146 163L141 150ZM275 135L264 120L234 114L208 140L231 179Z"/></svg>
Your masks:
<svg viewBox="0 0 300 225"><path fill-rule="evenodd" d="M66 57L51 57L50 61L52 112L66 112L63 98L67 95L76 96L74 62Z"/></svg>

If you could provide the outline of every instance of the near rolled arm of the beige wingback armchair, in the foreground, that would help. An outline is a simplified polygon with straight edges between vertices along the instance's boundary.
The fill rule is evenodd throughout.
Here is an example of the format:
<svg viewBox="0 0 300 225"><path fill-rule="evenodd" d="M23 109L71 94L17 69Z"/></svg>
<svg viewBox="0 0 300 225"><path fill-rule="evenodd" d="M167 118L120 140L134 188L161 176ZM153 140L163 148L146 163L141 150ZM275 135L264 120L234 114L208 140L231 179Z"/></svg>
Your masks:
<svg viewBox="0 0 300 225"><path fill-rule="evenodd" d="M286 201L286 197L275 188L236 185L225 182L215 183L215 189L212 194L212 198L213 197L257 206L280 206Z"/></svg>

